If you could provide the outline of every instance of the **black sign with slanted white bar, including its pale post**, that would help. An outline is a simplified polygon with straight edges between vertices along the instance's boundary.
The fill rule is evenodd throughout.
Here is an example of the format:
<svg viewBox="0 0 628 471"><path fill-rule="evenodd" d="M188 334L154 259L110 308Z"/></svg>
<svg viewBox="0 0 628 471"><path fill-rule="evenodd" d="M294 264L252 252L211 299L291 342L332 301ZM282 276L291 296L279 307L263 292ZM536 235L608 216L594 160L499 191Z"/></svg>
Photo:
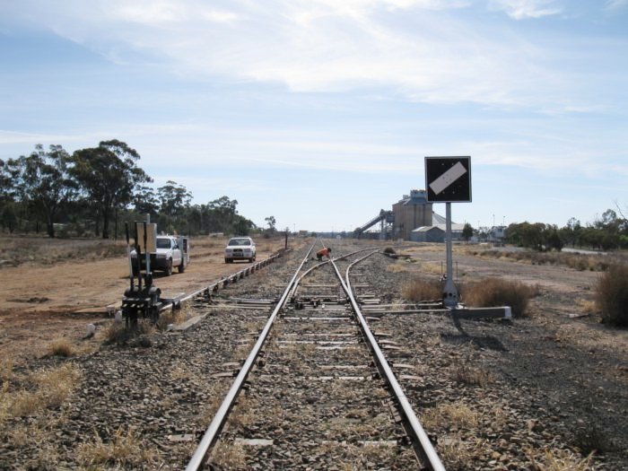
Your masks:
<svg viewBox="0 0 628 471"><path fill-rule="evenodd" d="M453 280L451 242L451 203L471 202L471 157L425 157L425 188L431 203L445 203L445 245L447 279L442 302L447 308L458 306L458 290Z"/></svg>

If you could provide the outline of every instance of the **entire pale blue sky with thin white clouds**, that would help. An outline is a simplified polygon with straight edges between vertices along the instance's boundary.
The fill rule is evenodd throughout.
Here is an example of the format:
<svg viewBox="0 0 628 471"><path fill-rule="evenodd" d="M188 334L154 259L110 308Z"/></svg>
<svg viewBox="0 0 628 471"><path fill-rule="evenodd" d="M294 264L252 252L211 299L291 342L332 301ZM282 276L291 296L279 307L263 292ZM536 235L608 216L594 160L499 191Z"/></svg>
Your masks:
<svg viewBox="0 0 628 471"><path fill-rule="evenodd" d="M0 159L120 139L257 225L351 231L428 155L474 227L628 208L628 0L0 0L0 65Z"/></svg>

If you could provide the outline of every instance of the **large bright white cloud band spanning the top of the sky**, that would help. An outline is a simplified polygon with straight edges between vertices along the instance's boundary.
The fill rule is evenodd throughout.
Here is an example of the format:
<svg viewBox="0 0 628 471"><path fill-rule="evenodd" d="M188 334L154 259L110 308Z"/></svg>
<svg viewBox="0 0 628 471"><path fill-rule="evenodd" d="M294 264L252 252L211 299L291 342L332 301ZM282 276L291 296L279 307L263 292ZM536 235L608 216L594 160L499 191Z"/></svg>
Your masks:
<svg viewBox="0 0 628 471"><path fill-rule="evenodd" d="M492 0L513 18L560 11L549 0ZM22 0L13 10L118 62L161 59L195 80L277 83L292 92L376 92L407 100L588 108L542 39L478 27L469 1L222 2ZM41 18L42 20L39 20ZM45 19L45 20L43 20Z"/></svg>

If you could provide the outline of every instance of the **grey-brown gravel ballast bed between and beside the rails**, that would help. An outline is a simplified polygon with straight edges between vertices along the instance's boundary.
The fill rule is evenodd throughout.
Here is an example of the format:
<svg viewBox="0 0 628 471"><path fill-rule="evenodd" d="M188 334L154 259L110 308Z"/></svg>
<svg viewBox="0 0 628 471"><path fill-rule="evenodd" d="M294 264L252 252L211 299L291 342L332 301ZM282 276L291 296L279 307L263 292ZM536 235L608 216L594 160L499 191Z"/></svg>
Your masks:
<svg viewBox="0 0 628 471"><path fill-rule="evenodd" d="M333 247L337 257L365 242L335 240ZM336 260L344 283L348 266L369 253ZM96 331L98 350L48 355L9 376L3 373L0 468L186 467L304 255L295 250L252 272L242 264L238 274L195 292L181 306L181 313L201 319L188 330L153 331L112 344L103 334L113 322L103 320ZM421 263L379 254L364 258L349 272L350 291L445 467L549 468L551 452L556 459L571 459L573 468L587 469L576 467L586 457L573 451L583 416L572 407L588 397L565 396L564 383L571 379L564 376L555 386L549 379L543 387L537 384L545 378L539 368L560 371L560 362L579 353L540 342L546 327L525 319L514 325L465 320L456 326L433 306L426 310L401 301L401 286ZM311 266L318 263L309 260L304 267ZM292 288L227 422L207 449L206 467L429 467L417 453L400 401L374 362L336 270L321 265L298 290ZM184 304L180 301L173 299L172 306ZM522 349L531 336L537 337L530 344L535 348ZM540 357L537 345L543 345ZM584 364L589 354L574 358ZM58 376L54 382L64 383L71 394L54 406L15 412L22 397L29 404L48 397L53 382L48 379L46 389L38 386L48 371L69 376L72 384ZM624 430L625 400L618 397L615 412L585 409L589 423L602 414L605 423L617 421L617 429ZM594 458L590 468L625 468L621 452L607 457Z"/></svg>

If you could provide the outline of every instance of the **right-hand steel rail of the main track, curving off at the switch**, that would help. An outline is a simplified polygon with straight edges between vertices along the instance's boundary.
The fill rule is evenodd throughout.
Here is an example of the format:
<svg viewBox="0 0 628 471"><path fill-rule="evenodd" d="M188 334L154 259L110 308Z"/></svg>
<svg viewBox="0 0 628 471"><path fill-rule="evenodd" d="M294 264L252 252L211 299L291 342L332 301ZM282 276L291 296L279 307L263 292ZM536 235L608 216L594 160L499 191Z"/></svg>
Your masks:
<svg viewBox="0 0 628 471"><path fill-rule="evenodd" d="M442 463L440 462L440 458L432 445L432 441L430 441L427 433L425 433L425 431L423 430L423 426L421 425L421 423L419 423L416 414L414 414L414 410L412 409L412 406L410 406L410 402L406 397L406 393L399 385L399 382L395 377L395 373L393 373L390 365L388 365L388 361L386 360L384 353L381 352L381 349L379 348L379 345L375 340L375 336L373 336L373 334L371 333L371 328L367 324L364 316L362 316L362 311L360 310L360 307L358 306L358 303L357 301L355 301L355 297L353 296L353 288L351 287L351 282L349 280L349 271L355 264L361 262L367 257L371 257L371 255L375 253L378 253L378 251L372 251L370 254L355 260L351 265L347 267L346 283L343 280L342 275L340 275L338 267L333 261L332 265L336 270L336 275L340 279L340 283L342 283L343 285L343 289L345 290L347 296L349 297L349 300L351 301L351 305L353 307L353 310L355 311L355 315L357 316L360 322L360 326L362 327L362 334L366 336L369 340L372 353L374 354L378 364L379 372L382 377L388 382L388 385L390 386L390 388L392 388L395 394L397 403L401 408L400 412L403 414L403 418L407 425L406 432L408 433L408 435L410 435L410 438L413 441L413 448L416 450L417 454L421 458L423 458L423 461L425 461L428 469L431 469L432 471L445 471L445 467L443 467Z"/></svg>

